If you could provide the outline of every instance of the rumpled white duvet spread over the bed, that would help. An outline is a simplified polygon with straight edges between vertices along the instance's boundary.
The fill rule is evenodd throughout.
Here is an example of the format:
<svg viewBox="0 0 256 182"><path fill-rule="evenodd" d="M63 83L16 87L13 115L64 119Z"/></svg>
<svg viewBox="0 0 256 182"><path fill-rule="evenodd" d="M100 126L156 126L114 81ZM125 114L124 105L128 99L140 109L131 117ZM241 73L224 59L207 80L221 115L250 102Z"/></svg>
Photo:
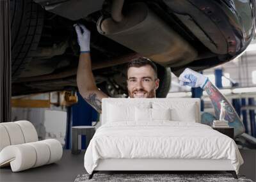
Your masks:
<svg viewBox="0 0 256 182"><path fill-rule="evenodd" d="M84 155L89 174L105 158L204 158L229 159L238 174L243 158L236 142L200 123L154 121L100 126Z"/></svg>

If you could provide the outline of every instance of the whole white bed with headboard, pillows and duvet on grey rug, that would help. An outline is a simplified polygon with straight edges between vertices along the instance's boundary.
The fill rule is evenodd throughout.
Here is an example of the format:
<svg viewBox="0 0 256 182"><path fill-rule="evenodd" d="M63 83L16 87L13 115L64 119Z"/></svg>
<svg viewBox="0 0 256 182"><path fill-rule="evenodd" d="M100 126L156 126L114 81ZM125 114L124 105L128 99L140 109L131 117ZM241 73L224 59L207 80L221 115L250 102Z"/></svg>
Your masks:
<svg viewBox="0 0 256 182"><path fill-rule="evenodd" d="M142 113L148 108L150 119ZM102 126L84 155L90 178L97 171L229 171L237 178L242 163L234 140L200 124L195 98L103 99Z"/></svg>

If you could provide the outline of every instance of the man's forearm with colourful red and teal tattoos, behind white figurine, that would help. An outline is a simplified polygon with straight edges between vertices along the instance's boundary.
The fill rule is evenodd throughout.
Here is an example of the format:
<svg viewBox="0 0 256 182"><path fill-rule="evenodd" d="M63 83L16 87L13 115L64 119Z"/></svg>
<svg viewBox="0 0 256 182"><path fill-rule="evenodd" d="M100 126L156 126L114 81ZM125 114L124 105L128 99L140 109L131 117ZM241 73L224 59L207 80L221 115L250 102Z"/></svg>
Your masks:
<svg viewBox="0 0 256 182"><path fill-rule="evenodd" d="M235 130L235 136L237 134L241 134L244 132L244 125L241 119L239 118L236 110L234 107L228 102L227 98L223 96L219 89L214 86L210 81L207 82L205 85L205 91L209 95L209 98L211 99L212 105L214 107L214 112L216 115L216 118L219 119L220 117L220 102L221 100L224 100L225 102L225 120L228 121L228 125L234 127Z"/></svg>

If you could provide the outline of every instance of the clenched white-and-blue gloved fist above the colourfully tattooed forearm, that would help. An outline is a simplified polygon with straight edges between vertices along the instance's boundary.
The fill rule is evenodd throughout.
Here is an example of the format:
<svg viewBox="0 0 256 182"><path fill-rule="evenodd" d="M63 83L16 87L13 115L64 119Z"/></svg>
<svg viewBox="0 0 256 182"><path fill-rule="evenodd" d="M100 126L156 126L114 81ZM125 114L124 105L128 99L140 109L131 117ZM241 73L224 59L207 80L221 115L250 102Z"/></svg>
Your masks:
<svg viewBox="0 0 256 182"><path fill-rule="evenodd" d="M186 68L179 76L180 85L191 86L191 87L201 87L204 89L206 83L209 81L204 75L195 72L189 68Z"/></svg>

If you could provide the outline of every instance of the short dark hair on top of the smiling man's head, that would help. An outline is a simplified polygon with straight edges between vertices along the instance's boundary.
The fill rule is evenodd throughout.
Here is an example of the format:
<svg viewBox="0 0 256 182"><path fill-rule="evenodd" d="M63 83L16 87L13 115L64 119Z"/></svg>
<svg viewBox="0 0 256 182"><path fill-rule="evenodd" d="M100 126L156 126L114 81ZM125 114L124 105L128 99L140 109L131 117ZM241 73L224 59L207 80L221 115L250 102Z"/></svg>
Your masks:
<svg viewBox="0 0 256 182"><path fill-rule="evenodd" d="M131 67L140 68L141 66L145 66L147 64L153 68L155 72L155 79L157 79L157 66L153 61L151 61L147 57L138 57L138 58L132 59L132 61L127 64L127 71Z"/></svg>

